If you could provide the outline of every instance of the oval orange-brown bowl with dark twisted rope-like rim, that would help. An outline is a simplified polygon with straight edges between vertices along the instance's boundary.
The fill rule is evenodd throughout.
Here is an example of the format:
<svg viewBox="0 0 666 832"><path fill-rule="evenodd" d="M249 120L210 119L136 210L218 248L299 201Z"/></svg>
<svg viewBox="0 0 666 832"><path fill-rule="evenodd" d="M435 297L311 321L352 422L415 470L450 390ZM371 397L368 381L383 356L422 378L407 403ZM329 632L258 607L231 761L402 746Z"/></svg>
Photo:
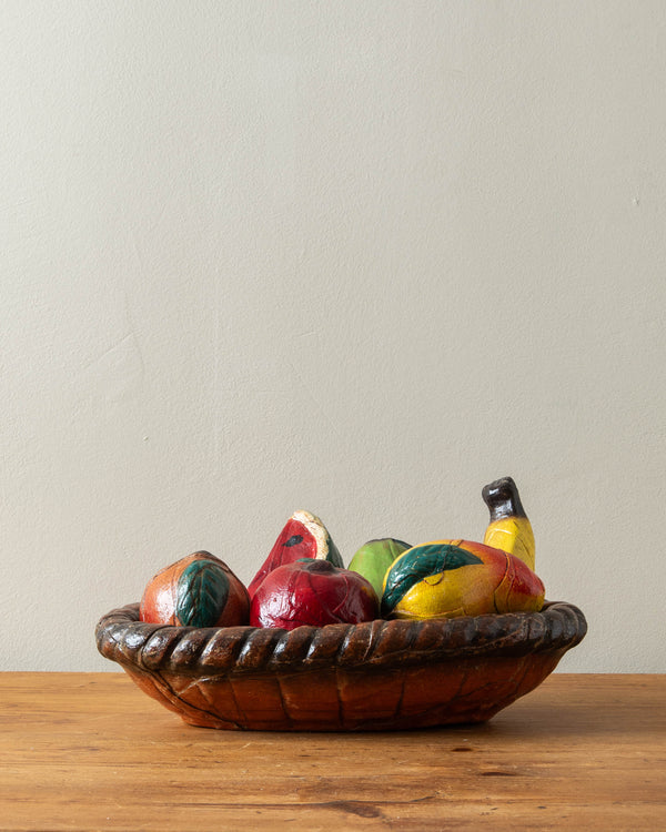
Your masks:
<svg viewBox="0 0 666 832"><path fill-rule="evenodd" d="M193 726L386 731L483 722L585 636L581 610L299 627L164 627L105 615L98 649Z"/></svg>

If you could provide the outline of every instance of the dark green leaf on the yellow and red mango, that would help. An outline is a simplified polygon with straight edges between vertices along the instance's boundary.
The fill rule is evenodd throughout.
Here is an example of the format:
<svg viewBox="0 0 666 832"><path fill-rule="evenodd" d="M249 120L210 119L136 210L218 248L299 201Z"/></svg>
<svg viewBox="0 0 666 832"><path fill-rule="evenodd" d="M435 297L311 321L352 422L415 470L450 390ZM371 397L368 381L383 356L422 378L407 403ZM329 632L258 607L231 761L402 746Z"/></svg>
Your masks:
<svg viewBox="0 0 666 832"><path fill-rule="evenodd" d="M386 576L386 588L382 596L382 612L393 610L401 598L420 580L462 566L483 564L481 558L452 544L425 544L415 546L397 560Z"/></svg>

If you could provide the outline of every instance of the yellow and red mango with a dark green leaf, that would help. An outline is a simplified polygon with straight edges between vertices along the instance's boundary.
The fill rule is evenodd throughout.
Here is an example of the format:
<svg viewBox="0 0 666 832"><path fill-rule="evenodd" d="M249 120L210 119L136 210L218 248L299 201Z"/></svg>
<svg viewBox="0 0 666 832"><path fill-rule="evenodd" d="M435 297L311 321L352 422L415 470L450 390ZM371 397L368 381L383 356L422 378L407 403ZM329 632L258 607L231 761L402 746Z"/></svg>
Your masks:
<svg viewBox="0 0 666 832"><path fill-rule="evenodd" d="M544 585L519 558L470 540L434 540L403 552L389 569L382 615L455 618L536 612Z"/></svg>

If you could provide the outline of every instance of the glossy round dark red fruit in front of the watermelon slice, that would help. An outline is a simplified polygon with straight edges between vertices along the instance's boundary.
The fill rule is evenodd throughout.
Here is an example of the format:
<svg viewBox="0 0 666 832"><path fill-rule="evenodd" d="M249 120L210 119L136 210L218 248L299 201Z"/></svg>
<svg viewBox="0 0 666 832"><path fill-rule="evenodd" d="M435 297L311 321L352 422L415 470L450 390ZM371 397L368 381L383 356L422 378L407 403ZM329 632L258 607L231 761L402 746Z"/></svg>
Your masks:
<svg viewBox="0 0 666 832"><path fill-rule="evenodd" d="M327 560L303 558L284 564L264 578L252 598L252 627L295 630L301 625L357 623L379 617L379 599L370 581Z"/></svg>

